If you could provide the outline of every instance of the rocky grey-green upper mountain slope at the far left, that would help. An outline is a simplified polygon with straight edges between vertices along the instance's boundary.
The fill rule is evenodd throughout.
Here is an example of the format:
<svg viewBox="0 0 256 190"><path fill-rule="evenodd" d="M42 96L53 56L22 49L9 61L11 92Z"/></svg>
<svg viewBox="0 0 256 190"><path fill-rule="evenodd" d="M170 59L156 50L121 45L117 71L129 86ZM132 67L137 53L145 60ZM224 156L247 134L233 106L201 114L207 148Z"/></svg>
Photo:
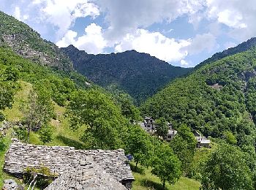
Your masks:
<svg viewBox="0 0 256 190"><path fill-rule="evenodd" d="M0 11L0 45L7 45L20 56L42 65L72 70L72 62L52 42L40 37L25 23Z"/></svg>

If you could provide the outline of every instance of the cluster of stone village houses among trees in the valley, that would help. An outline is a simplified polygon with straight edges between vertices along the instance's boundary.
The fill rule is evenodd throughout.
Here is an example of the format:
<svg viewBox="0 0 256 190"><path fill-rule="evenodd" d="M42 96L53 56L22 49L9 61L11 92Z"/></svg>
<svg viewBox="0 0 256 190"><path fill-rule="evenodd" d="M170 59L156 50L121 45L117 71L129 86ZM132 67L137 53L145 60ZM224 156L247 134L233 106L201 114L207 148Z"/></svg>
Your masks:
<svg viewBox="0 0 256 190"><path fill-rule="evenodd" d="M155 122L154 118L152 117L145 117L144 121L138 121L137 123L142 129L148 132L151 135L155 135L157 132L157 123ZM167 134L163 137L164 140L170 141L178 134L178 131L173 129L173 124L167 122ZM200 132L197 130L192 131L195 139L197 140L197 148L211 148L211 140L204 137Z"/></svg>

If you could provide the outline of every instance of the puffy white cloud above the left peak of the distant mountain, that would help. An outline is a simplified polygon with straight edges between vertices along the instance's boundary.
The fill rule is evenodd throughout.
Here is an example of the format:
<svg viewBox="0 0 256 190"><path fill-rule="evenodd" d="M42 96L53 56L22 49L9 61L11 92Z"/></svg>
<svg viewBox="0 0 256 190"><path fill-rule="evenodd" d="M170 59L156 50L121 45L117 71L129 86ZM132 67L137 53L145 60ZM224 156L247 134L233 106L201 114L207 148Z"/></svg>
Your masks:
<svg viewBox="0 0 256 190"><path fill-rule="evenodd" d="M74 45L79 50L85 50L87 53L98 54L102 53L107 46L107 41L102 37L102 27L91 23L85 28L85 34L78 37L75 31L67 31L67 34L56 43L59 47L67 47Z"/></svg>

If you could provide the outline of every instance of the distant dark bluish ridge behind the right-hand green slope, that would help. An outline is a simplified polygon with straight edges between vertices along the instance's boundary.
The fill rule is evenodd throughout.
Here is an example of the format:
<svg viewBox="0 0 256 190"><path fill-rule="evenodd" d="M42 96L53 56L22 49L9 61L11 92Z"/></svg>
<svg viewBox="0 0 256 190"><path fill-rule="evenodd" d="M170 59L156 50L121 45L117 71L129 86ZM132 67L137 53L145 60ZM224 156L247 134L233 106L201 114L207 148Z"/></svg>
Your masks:
<svg viewBox="0 0 256 190"><path fill-rule="evenodd" d="M240 53L240 52L249 50L249 48L254 47L255 45L256 45L256 37L252 37L251 39L248 39L246 42L243 42L243 43L237 45L236 47L230 47L227 50L224 50L219 53L215 53L213 56L211 56L211 58L207 58L205 61L203 61L202 63L195 66L195 69L202 65L208 64L212 61L217 61L221 58L225 58L227 56L232 56L236 53Z"/></svg>

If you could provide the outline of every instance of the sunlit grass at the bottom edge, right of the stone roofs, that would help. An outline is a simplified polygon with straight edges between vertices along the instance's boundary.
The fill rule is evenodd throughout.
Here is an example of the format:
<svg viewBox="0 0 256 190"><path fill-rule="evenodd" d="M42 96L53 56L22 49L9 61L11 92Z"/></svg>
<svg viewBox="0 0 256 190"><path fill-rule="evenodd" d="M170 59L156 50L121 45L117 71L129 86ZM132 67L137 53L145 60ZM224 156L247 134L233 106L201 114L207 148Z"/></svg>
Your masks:
<svg viewBox="0 0 256 190"><path fill-rule="evenodd" d="M135 164L131 164L132 170L135 168ZM135 181L132 183L133 190L153 190L162 189L162 182L156 175L151 174L150 168L143 168L138 164L138 172L132 171ZM177 183L171 185L166 183L165 189L167 190L198 190L200 189L200 183L197 180L181 177Z"/></svg>

